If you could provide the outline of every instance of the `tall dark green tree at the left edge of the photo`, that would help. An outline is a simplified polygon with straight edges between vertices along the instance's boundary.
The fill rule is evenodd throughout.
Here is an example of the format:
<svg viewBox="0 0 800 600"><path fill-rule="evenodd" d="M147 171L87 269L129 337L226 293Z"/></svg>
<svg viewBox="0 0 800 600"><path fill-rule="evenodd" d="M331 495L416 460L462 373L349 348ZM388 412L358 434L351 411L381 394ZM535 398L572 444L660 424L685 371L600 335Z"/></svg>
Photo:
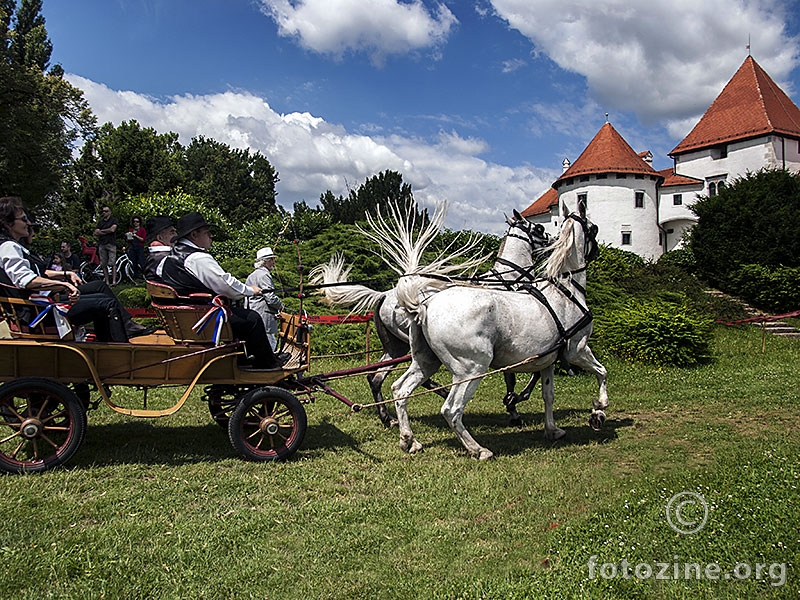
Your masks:
<svg viewBox="0 0 800 600"><path fill-rule="evenodd" d="M31 206L62 191L73 145L96 127L82 92L50 65L41 0L0 3L0 193Z"/></svg>

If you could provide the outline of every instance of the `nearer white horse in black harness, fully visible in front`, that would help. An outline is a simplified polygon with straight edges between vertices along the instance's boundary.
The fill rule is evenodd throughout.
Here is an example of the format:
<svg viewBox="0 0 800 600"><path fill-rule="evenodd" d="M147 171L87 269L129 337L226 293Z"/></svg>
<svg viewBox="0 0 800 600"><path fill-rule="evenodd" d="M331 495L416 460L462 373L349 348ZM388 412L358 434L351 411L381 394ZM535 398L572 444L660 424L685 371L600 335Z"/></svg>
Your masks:
<svg viewBox="0 0 800 600"><path fill-rule="evenodd" d="M387 244L397 247L397 241L409 235L392 229L380 216L369 223L373 231L364 233L384 249ZM396 268L406 267L409 273L397 285L397 302L412 318L411 366L392 385L401 449L422 449L411 430L408 396L442 364L452 374L453 385L441 413L473 457L494 456L462 422L467 402L489 369L541 371L545 438L565 434L553 420L553 365L559 353L597 377L600 393L589 423L600 428L608 407L607 374L588 346L592 318L585 291L586 263L597 253L596 233L583 207L580 214L569 214L547 260L547 278L531 286L531 293L465 286L433 289L424 275L435 272L420 267L419 256L395 253Z"/></svg>

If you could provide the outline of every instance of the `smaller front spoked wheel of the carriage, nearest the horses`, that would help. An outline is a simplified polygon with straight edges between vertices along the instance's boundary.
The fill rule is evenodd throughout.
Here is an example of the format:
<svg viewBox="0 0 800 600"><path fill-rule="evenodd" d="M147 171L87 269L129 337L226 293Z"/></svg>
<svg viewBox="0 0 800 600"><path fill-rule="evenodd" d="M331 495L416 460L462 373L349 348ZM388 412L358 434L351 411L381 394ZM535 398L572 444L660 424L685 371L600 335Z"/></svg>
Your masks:
<svg viewBox="0 0 800 600"><path fill-rule="evenodd" d="M263 387L245 394L228 423L233 447L249 460L288 458L306 435L306 409L291 393Z"/></svg>

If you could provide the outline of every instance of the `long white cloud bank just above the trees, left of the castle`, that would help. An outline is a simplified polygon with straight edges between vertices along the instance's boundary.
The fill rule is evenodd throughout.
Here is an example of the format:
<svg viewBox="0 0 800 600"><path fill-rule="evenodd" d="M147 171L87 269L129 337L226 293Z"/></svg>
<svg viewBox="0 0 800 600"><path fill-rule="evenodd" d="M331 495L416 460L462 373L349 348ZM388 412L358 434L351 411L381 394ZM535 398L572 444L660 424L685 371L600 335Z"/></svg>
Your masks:
<svg viewBox="0 0 800 600"><path fill-rule="evenodd" d="M433 140L358 135L309 113L279 114L246 92L159 101L77 75L67 78L83 90L100 123L133 119L159 133L177 133L184 145L202 135L261 152L278 171L278 201L286 208L300 200L314 206L327 190L346 195L368 177L393 170L423 206L448 201L448 227L499 234L504 213L526 208L557 177L552 170L487 162L480 158L486 142L456 131Z"/></svg>

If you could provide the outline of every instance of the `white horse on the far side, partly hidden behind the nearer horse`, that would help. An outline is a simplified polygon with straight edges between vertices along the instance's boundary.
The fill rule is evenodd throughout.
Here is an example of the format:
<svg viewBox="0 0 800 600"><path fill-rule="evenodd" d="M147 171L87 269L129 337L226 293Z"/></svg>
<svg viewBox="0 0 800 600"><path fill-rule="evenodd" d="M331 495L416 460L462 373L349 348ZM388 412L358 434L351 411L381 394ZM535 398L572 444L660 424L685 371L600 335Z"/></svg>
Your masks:
<svg viewBox="0 0 800 600"><path fill-rule="evenodd" d="M518 289L533 281L534 269L541 262L543 256L542 249L550 244L551 239L545 233L544 227L531 223L516 210L514 210L512 218L506 217L506 223L508 229L500 244L494 266L475 281L481 285L498 289ZM411 320L408 314L404 310L399 310L397 306L396 289L379 292L365 285L350 284L347 282L347 278L351 269L352 267L345 266L344 257L336 254L328 263L312 269L309 282L324 286L322 292L329 304L353 306L354 312L374 311L375 331L383 347L381 361L405 356L410 352L408 331L411 327ZM347 285L341 287L332 285L335 283L347 283ZM372 390L378 418L386 427L393 427L397 425L397 420L386 409L382 393L383 382L389 372L390 367L380 369L368 375L367 381ZM506 395L503 398L503 404L510 414L510 423L519 425L522 423L522 417L517 412L516 405L530 396L539 375L538 373L534 374L528 385L519 394L514 392L515 374L504 373L504 377ZM447 392L440 389L440 386L431 380L426 380L421 385L434 390L442 398L447 397Z"/></svg>

